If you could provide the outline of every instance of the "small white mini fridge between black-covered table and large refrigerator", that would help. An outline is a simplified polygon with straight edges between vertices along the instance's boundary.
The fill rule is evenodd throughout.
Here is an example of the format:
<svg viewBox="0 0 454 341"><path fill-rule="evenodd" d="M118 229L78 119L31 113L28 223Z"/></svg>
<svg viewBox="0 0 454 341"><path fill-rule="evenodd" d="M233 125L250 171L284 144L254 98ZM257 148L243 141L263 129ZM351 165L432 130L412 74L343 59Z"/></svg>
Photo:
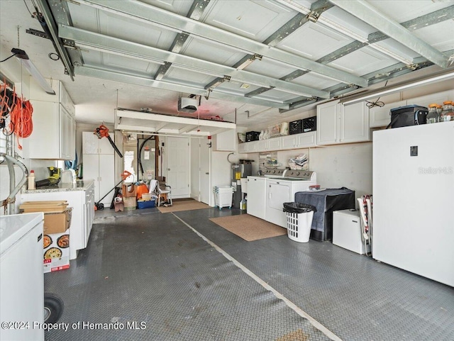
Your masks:
<svg viewBox="0 0 454 341"><path fill-rule="evenodd" d="M360 255L365 254L364 242L361 239L360 211L333 211L333 244ZM367 245L368 252L370 245Z"/></svg>

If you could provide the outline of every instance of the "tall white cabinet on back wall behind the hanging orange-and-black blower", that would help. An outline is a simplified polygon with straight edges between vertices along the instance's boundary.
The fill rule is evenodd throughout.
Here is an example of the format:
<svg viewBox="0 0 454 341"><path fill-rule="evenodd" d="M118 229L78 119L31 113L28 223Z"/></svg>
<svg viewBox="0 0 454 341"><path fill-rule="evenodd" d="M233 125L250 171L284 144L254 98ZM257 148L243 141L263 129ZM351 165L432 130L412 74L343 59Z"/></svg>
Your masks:
<svg viewBox="0 0 454 341"><path fill-rule="evenodd" d="M114 135L110 135L114 140ZM94 201L105 196L115 186L115 150L107 138L99 139L93 132L82 132L84 179L94 179ZM114 191L101 203L110 206Z"/></svg>

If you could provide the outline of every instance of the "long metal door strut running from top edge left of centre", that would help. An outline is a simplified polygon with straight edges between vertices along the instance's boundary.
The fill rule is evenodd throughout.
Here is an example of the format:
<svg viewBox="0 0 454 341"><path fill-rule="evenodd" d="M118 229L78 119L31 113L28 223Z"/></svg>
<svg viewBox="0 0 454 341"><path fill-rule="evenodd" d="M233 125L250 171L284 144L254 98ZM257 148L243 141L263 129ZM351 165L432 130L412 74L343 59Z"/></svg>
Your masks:
<svg viewBox="0 0 454 341"><path fill-rule="evenodd" d="M150 24L155 23L163 28L179 30L179 32L187 32L200 38L214 40L218 43L228 45L235 50L247 51L252 54L257 53L264 57L292 65L298 69L310 69L313 72L338 79L343 83L351 83L358 86L365 86L367 84L365 79L340 69L322 65L308 58L258 43L241 35L236 35L205 23L199 23L198 21L179 16L176 13L171 13L138 1L79 0L78 2L96 9L101 9L102 11L115 13L119 16L133 18L137 21Z"/></svg>

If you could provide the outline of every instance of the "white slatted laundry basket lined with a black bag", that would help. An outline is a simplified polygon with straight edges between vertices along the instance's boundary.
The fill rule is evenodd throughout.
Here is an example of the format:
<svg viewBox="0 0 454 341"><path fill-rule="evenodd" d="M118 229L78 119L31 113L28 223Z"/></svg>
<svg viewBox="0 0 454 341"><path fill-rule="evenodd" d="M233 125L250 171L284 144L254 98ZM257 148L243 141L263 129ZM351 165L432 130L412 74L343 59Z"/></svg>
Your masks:
<svg viewBox="0 0 454 341"><path fill-rule="evenodd" d="M312 218L317 211L315 206L307 203L284 203L287 215L287 236L295 242L309 242Z"/></svg>

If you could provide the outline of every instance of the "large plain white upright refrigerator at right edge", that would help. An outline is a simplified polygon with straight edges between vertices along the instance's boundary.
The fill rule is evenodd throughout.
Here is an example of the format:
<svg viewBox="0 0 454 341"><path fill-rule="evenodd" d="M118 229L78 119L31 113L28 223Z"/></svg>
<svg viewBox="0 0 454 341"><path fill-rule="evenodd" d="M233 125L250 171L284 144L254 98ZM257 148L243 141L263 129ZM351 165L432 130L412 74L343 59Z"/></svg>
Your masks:
<svg viewBox="0 0 454 341"><path fill-rule="evenodd" d="M375 131L372 257L454 286L454 122Z"/></svg>

